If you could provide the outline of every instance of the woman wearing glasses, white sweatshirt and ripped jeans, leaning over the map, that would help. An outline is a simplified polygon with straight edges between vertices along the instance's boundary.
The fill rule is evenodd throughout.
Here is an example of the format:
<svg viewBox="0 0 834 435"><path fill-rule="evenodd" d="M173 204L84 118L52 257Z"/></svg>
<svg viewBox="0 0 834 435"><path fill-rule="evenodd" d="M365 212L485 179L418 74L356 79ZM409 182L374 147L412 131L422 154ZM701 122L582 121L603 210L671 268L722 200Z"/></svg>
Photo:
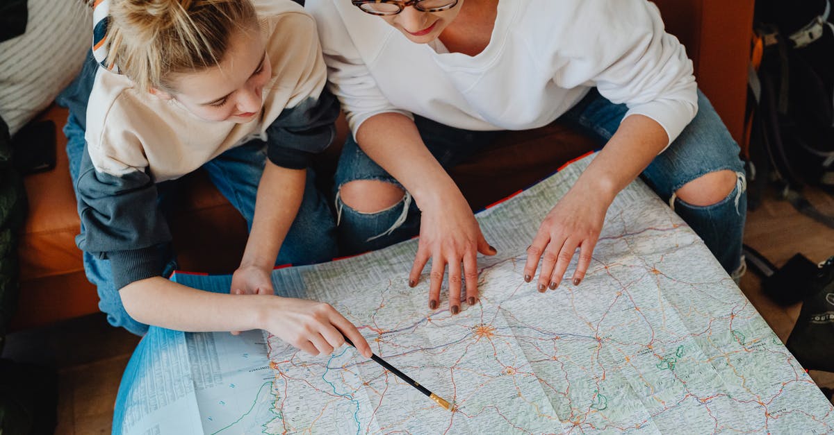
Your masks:
<svg viewBox="0 0 834 435"><path fill-rule="evenodd" d="M420 233L409 283L431 258L450 310L476 303L477 253L495 248L444 168L493 132L573 122L605 147L530 241L525 279L578 285L615 195L641 175L730 273L746 214L739 148L691 61L646 0L307 0L332 91L353 132L339 161L340 243L352 252ZM541 265L539 262L541 260ZM461 266L462 264L462 266ZM536 276L538 270L538 276Z"/></svg>

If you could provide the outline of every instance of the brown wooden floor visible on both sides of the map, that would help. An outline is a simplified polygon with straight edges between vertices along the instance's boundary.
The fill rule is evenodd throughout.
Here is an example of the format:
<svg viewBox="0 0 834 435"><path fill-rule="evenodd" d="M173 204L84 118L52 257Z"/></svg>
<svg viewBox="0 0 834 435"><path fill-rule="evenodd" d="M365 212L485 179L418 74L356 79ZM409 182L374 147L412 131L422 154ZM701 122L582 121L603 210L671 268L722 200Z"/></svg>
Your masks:
<svg viewBox="0 0 834 435"><path fill-rule="evenodd" d="M818 208L834 213L834 198L810 192ZM771 194L748 215L745 242L777 266L799 252L814 262L834 255L834 230L796 213ZM404 271L406 273L407 271ZM747 273L741 289L784 342L798 305L782 308L761 294L758 278ZM47 363L58 369L60 434L110 433L119 379L138 338L111 328L103 315L79 318L51 328L13 333L5 358ZM834 387L834 373L811 372L821 386Z"/></svg>

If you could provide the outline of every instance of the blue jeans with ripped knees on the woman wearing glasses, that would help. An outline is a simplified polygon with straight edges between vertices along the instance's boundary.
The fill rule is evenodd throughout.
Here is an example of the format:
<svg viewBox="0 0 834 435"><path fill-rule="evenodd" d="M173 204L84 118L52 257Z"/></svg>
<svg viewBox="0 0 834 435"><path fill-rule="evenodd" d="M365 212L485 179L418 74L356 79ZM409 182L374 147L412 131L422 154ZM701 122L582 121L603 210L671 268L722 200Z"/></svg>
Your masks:
<svg viewBox="0 0 834 435"><path fill-rule="evenodd" d="M704 240L727 273L741 269L741 238L746 219L747 195L744 164L738 144L707 98L698 92L698 114L641 174L646 182ZM615 104L592 89L575 107L560 117L605 144L620 126L628 108ZM415 117L420 136L444 168L451 168L490 145L496 132L470 132L451 128L424 117ZM722 201L694 206L677 198L684 184L707 173L731 170L736 188ZM339 188L354 180L379 180L402 185L374 163L349 137L335 175L335 206L341 254L351 255L384 248L420 233L420 210L408 192L391 208L379 213L359 213L339 198ZM405 189L403 189L405 190Z"/></svg>

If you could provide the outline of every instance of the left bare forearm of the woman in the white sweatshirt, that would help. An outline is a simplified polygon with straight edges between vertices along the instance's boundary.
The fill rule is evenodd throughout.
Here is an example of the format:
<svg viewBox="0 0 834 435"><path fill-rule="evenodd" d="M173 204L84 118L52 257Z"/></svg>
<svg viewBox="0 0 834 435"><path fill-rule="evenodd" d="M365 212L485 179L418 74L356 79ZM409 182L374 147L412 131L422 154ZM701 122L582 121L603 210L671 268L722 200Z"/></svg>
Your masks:
<svg viewBox="0 0 834 435"><path fill-rule="evenodd" d="M425 147L414 121L399 113L380 113L359 126L356 142L411 193L418 206L460 195L460 189Z"/></svg>

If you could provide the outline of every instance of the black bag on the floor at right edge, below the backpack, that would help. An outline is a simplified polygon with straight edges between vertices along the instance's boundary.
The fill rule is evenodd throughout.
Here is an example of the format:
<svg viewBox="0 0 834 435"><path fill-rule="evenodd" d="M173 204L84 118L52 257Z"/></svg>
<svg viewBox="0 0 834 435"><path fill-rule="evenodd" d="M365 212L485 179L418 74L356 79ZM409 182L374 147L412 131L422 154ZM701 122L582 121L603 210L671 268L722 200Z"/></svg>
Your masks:
<svg viewBox="0 0 834 435"><path fill-rule="evenodd" d="M819 265L809 285L813 293L785 345L803 368L834 372L834 257Z"/></svg>

